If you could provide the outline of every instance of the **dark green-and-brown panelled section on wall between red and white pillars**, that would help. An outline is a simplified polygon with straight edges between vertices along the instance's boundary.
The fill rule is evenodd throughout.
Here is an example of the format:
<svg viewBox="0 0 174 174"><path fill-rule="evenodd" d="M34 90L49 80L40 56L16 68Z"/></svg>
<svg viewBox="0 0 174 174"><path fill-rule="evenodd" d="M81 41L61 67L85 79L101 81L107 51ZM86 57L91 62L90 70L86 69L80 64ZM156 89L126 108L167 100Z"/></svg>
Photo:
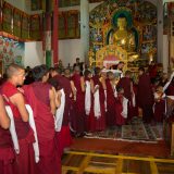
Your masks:
<svg viewBox="0 0 174 174"><path fill-rule="evenodd" d="M59 39L79 38L79 11L71 10L59 13Z"/></svg>

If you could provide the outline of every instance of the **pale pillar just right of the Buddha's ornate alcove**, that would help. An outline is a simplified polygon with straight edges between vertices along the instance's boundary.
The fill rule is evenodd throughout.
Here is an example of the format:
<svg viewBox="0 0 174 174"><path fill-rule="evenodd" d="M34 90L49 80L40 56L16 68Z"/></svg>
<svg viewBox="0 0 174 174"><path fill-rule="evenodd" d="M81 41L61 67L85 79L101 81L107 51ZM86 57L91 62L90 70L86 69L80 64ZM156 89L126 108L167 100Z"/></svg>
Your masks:
<svg viewBox="0 0 174 174"><path fill-rule="evenodd" d="M163 63L163 1L158 1L157 3L157 14L158 14L158 21L157 21L157 30L158 30L158 45L157 45L157 61L159 63Z"/></svg>

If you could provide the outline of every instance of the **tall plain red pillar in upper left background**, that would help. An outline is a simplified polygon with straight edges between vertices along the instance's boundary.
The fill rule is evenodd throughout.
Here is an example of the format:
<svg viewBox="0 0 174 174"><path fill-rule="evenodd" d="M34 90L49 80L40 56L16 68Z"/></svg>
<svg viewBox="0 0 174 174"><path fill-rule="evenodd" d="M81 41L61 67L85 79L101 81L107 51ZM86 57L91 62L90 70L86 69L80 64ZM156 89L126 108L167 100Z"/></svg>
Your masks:
<svg viewBox="0 0 174 174"><path fill-rule="evenodd" d="M59 38L58 38L58 8L59 0L53 0L53 28L52 28L52 50L53 50L53 65L58 66L58 54L59 54Z"/></svg>

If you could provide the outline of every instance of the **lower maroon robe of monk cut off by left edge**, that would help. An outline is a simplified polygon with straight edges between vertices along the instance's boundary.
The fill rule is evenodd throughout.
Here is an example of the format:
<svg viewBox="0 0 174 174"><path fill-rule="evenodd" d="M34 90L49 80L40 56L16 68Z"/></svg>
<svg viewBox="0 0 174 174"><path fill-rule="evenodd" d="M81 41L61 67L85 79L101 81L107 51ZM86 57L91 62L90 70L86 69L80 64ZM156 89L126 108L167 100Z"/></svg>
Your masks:
<svg viewBox="0 0 174 174"><path fill-rule="evenodd" d="M0 174L14 173L14 152L9 129L0 127Z"/></svg>

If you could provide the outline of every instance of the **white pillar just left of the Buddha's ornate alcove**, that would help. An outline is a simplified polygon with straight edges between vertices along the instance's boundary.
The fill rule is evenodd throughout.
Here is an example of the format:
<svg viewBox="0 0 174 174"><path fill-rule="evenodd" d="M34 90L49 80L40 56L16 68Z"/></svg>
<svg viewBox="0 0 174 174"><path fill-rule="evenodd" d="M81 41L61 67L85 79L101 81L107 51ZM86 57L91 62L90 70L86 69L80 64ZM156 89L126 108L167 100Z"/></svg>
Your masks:
<svg viewBox="0 0 174 174"><path fill-rule="evenodd" d="M88 63L89 51L89 1L80 0L80 44L83 60Z"/></svg>

